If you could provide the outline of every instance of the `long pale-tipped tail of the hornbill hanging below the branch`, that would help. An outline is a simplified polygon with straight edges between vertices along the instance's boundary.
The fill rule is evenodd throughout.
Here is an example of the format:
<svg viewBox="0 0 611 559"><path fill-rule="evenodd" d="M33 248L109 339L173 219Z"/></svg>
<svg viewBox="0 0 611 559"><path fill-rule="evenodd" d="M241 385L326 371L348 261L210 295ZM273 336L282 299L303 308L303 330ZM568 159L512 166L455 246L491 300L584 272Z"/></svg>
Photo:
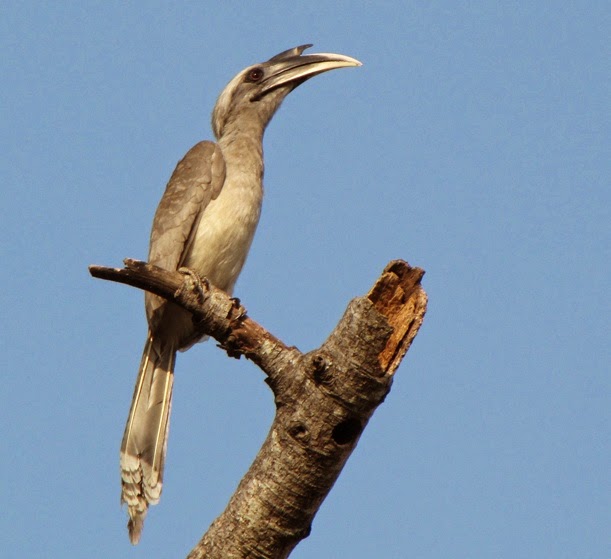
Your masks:
<svg viewBox="0 0 611 559"><path fill-rule="evenodd" d="M161 495L175 359L174 346L149 332L121 443L121 504L127 503L134 545L149 505L156 505Z"/></svg>

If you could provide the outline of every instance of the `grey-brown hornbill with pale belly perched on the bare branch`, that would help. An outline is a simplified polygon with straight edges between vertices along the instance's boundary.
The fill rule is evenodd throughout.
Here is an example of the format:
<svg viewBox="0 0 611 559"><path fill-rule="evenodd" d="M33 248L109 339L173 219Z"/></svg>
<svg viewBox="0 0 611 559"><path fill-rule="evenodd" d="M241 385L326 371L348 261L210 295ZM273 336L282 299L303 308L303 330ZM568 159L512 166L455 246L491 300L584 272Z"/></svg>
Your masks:
<svg viewBox="0 0 611 559"><path fill-rule="evenodd" d="M313 76L361 66L341 54L285 50L239 72L212 111L216 142L202 141L178 162L159 202L148 261L187 268L231 295L244 266L263 199L263 135L285 97ZM176 352L203 336L191 314L145 293L148 335L121 443L121 504L132 544L159 502L172 405Z"/></svg>

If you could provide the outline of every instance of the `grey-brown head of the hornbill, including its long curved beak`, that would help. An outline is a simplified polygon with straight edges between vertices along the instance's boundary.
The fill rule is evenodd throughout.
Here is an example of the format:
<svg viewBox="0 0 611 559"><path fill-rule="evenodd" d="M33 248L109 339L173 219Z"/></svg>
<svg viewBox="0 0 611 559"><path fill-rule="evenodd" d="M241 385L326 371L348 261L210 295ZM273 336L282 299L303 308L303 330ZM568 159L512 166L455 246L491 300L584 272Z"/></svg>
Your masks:
<svg viewBox="0 0 611 559"><path fill-rule="evenodd" d="M220 139L229 128L253 126L262 134L283 99L312 76L361 66L349 56L333 53L303 54L301 45L242 70L221 92L212 111L212 130Z"/></svg>

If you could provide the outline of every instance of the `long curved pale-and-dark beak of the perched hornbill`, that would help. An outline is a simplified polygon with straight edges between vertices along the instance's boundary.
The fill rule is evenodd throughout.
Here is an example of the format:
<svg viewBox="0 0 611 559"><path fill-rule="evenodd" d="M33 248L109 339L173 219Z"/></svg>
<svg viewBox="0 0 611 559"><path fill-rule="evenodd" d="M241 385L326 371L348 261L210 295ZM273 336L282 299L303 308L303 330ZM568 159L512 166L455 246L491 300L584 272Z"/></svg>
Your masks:
<svg viewBox="0 0 611 559"><path fill-rule="evenodd" d="M263 66L267 66L266 77L261 82L261 90L253 101L261 98L267 92L280 86L291 85L292 89L313 76L350 66L362 66L356 58L343 54L321 52L306 54L302 52L312 45L302 45L286 50L270 58Z"/></svg>

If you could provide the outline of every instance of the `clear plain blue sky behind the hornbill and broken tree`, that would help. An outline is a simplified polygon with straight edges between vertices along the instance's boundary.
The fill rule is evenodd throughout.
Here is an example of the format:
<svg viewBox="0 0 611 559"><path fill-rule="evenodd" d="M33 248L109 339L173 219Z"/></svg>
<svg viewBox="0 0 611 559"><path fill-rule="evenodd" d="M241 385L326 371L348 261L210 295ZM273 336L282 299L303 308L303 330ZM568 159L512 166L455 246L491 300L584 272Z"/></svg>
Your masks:
<svg viewBox="0 0 611 559"><path fill-rule="evenodd" d="M302 350L391 259L430 303L292 557L610 557L608 3L287 6L0 8L3 555L181 557L224 508L273 403L207 343L178 358L164 494L129 544L142 294L87 265L145 258L224 85L311 42L364 65L271 123L236 295Z"/></svg>

